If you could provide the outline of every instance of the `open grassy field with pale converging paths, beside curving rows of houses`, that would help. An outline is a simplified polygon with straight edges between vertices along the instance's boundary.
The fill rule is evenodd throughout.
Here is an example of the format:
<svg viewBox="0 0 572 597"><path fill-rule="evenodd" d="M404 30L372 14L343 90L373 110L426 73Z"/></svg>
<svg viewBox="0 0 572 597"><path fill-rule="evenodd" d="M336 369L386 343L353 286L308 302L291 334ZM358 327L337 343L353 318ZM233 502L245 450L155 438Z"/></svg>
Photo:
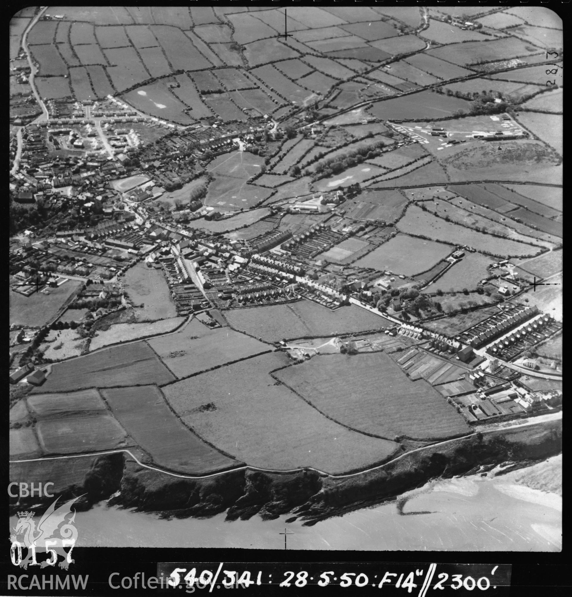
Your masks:
<svg viewBox="0 0 572 597"><path fill-rule="evenodd" d="M264 164L264 158L248 152L225 153L208 165L215 179L209 184L205 205L219 211L252 208L270 195L270 189L247 184Z"/></svg>

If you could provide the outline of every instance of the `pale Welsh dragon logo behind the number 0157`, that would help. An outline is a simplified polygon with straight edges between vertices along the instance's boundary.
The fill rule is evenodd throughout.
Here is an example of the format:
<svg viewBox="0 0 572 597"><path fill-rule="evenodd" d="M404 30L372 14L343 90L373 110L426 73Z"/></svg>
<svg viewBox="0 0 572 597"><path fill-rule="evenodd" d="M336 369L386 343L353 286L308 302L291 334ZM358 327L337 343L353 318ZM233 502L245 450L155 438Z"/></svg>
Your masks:
<svg viewBox="0 0 572 597"><path fill-rule="evenodd" d="M78 530L73 524L76 517L75 510L69 519L66 520L66 516L72 512L72 504L79 497L67 501L58 509L55 509L55 504L59 497L55 498L39 520L37 527L33 519L35 512L18 512L18 522L14 527L15 534L10 535L12 544L10 555L14 565L20 566L24 570L28 565L37 566L36 553L38 552L51 553L50 558L39 563L40 568L54 566L58 561L58 556L63 558L63 561L58 564L63 570L67 570L69 565L73 564L72 550L78 538ZM22 547L26 547L28 550L24 559L22 559ZM70 547L69 552L66 552L64 547Z"/></svg>

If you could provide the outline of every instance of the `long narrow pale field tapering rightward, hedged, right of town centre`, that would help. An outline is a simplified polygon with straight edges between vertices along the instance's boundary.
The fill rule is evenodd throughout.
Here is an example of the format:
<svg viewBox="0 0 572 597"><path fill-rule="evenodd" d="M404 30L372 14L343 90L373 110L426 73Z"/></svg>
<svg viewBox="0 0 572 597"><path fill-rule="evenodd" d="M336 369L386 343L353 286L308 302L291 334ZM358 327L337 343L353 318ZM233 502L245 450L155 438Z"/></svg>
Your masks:
<svg viewBox="0 0 572 597"><path fill-rule="evenodd" d="M398 221L397 228L404 233L429 236L429 238L436 241L449 242L454 245L468 245L477 251L487 251L505 258L539 253L539 247L510 241L505 238L496 238L477 232L477 230L453 224L422 211L416 205L410 205L407 208L405 216Z"/></svg>

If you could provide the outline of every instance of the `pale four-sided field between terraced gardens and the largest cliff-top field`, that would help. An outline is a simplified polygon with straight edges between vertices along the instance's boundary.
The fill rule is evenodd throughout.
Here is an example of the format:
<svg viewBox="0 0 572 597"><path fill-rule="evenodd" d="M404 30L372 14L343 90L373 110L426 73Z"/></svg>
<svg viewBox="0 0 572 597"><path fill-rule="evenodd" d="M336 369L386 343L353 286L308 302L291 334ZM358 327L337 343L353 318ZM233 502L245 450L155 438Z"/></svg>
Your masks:
<svg viewBox="0 0 572 597"><path fill-rule="evenodd" d="M209 330L198 319L175 334L151 338L147 343L179 379L273 348L237 331Z"/></svg>

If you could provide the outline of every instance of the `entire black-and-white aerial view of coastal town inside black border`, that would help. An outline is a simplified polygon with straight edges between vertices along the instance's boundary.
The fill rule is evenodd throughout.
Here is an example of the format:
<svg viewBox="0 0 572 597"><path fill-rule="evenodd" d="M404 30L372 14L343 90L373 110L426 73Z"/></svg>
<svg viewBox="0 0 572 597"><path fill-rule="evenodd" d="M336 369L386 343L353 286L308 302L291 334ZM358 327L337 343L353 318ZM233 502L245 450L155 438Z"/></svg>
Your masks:
<svg viewBox="0 0 572 597"><path fill-rule="evenodd" d="M563 20L410 4L10 11L5 595L561 552Z"/></svg>

